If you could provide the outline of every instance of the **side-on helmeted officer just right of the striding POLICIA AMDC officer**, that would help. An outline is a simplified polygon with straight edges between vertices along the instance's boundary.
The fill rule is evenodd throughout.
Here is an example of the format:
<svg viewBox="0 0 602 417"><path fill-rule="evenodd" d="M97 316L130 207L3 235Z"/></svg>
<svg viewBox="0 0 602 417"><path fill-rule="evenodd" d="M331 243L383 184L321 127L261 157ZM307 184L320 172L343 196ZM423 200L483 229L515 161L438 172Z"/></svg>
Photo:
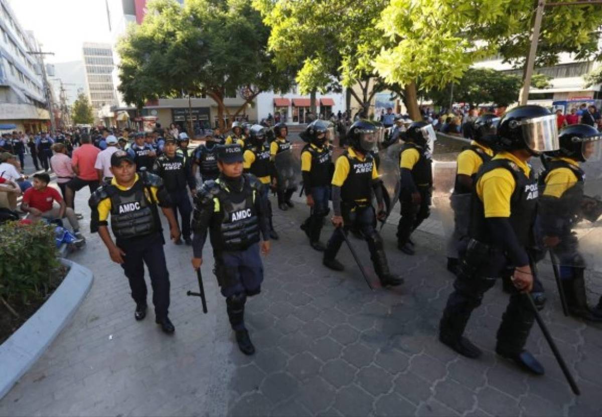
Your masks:
<svg viewBox="0 0 602 417"><path fill-rule="evenodd" d="M435 130L423 121L415 121L408 127L406 142L400 153L401 206L397 225L397 248L405 254L414 255L412 232L430 215L430 195L433 186L431 170L432 144Z"/></svg>

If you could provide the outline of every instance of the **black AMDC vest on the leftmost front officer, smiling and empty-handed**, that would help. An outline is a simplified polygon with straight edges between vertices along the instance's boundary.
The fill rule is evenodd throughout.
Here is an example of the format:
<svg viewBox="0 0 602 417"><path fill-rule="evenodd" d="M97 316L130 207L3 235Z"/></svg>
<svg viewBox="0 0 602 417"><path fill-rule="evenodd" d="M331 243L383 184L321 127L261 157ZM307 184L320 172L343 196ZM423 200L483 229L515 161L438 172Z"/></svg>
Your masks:
<svg viewBox="0 0 602 417"><path fill-rule="evenodd" d="M107 193L111 199L111 230L116 239L132 239L160 230L157 207L146 198L142 180L129 190L108 186Z"/></svg>

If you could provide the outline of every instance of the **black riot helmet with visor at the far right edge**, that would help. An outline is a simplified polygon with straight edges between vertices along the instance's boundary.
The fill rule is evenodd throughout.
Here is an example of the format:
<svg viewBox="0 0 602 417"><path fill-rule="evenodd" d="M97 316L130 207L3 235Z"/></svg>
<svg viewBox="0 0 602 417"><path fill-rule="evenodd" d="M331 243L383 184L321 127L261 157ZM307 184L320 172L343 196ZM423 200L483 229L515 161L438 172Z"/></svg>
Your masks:
<svg viewBox="0 0 602 417"><path fill-rule="evenodd" d="M558 139L560 149L546 152L548 156L565 156L580 162L600 160L602 136L595 127L572 124L560 130Z"/></svg>

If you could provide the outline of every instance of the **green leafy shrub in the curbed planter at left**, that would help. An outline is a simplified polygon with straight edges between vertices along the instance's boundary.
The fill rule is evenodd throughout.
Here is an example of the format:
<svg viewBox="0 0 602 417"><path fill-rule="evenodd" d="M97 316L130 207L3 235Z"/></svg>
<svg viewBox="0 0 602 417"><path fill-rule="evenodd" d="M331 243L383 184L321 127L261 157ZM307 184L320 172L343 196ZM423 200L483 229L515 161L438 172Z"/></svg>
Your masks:
<svg viewBox="0 0 602 417"><path fill-rule="evenodd" d="M45 299L62 278L57 255L54 227L0 225L0 297L23 305Z"/></svg>

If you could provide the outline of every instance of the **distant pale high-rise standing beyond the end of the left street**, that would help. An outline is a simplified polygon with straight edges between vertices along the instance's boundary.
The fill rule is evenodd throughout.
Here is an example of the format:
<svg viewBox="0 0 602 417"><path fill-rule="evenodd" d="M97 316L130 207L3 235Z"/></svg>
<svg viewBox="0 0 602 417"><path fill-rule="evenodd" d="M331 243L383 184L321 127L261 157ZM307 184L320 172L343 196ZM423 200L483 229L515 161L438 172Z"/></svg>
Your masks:
<svg viewBox="0 0 602 417"><path fill-rule="evenodd" d="M113 49L108 43L84 42L83 53L88 96L92 108L98 113L103 106L116 104Z"/></svg>

